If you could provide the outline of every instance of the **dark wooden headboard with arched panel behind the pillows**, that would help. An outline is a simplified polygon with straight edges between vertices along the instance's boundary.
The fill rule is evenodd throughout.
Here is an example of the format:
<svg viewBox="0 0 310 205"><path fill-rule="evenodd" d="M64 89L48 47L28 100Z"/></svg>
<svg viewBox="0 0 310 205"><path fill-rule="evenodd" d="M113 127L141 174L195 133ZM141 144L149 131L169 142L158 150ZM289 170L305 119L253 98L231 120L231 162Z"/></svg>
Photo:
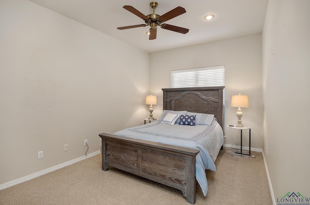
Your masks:
<svg viewBox="0 0 310 205"><path fill-rule="evenodd" d="M223 89L225 87L163 88L164 110L187 110L214 114L223 128Z"/></svg>

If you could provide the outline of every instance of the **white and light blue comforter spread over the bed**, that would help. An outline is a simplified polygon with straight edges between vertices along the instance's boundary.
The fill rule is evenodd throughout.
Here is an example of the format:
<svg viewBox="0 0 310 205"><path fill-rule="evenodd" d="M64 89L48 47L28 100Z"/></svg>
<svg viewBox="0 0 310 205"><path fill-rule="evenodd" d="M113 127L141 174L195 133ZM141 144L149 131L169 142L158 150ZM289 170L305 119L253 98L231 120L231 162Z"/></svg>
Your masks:
<svg viewBox="0 0 310 205"><path fill-rule="evenodd" d="M199 149L196 156L196 179L206 196L208 184L205 170L216 171L214 162L224 143L223 130L216 119L210 126L168 125L155 121L123 129L114 135Z"/></svg>

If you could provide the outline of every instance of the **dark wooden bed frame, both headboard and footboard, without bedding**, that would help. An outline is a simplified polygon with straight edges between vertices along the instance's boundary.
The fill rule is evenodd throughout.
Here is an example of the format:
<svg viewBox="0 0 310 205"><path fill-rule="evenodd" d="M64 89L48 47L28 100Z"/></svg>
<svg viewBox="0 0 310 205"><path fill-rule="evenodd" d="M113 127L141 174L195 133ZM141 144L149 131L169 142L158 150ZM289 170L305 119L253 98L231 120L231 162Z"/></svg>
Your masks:
<svg viewBox="0 0 310 205"><path fill-rule="evenodd" d="M164 110L214 114L223 127L224 87L167 88ZM109 166L179 189L196 202L196 155L199 150L101 133L102 170Z"/></svg>

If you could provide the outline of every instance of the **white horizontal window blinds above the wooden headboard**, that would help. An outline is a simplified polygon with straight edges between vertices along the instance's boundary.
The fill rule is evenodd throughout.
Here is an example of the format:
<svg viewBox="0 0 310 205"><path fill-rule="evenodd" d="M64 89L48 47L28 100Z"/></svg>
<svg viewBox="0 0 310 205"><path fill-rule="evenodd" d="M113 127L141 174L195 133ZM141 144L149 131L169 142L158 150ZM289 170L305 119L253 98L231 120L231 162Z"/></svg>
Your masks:
<svg viewBox="0 0 310 205"><path fill-rule="evenodd" d="M224 65L171 71L171 88L225 85Z"/></svg>

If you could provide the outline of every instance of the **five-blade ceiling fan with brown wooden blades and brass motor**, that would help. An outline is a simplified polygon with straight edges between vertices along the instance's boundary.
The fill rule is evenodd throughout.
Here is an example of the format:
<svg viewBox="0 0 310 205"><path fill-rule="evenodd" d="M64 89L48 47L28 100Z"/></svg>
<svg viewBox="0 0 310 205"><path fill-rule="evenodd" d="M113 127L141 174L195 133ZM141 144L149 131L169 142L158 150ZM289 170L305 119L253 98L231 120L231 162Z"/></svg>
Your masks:
<svg viewBox="0 0 310 205"><path fill-rule="evenodd" d="M171 11L167 12L166 14L163 14L162 16L155 14L155 8L157 7L158 3L153 1L150 3L150 6L153 8L153 14L149 14L145 16L142 14L140 11L135 9L132 6L123 6L124 9L127 11L133 13L134 15L142 18L145 22L145 24L139 24L139 25L133 25L133 26L124 26L124 27L118 27L117 29L119 30L124 30L124 29L132 29L132 28L137 28L137 27L145 27L145 26L150 26L150 36L149 40L154 40L156 39L156 33L157 33L157 26L160 26L162 29L167 29L172 32L179 32L179 33L187 33L189 30L178 27L178 26L173 26L170 24L165 24L163 22L170 20L171 18L174 18L176 16L179 16L181 14L186 13L185 8L178 6L175 9L172 9Z"/></svg>

